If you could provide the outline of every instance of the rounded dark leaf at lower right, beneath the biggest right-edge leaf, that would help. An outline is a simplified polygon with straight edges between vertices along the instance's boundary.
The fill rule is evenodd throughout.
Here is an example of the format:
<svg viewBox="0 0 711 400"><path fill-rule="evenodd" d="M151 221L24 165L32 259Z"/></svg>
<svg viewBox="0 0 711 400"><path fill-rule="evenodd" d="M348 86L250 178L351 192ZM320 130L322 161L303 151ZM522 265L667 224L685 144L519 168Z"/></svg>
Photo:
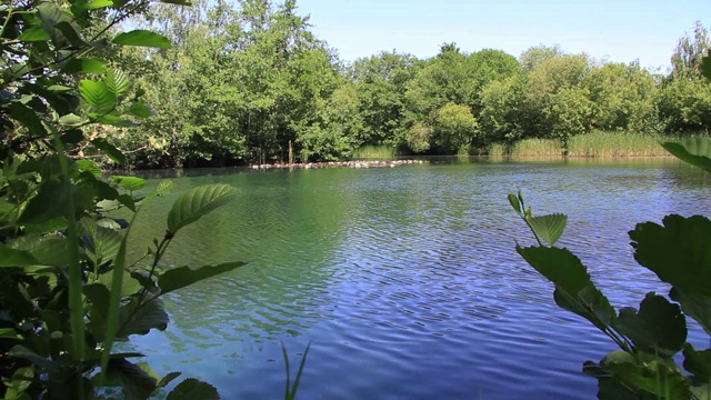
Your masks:
<svg viewBox="0 0 711 400"><path fill-rule="evenodd" d="M621 309L614 328L638 351L661 357L674 356L687 341L687 319L679 306L653 292L642 300L639 312L631 307Z"/></svg>

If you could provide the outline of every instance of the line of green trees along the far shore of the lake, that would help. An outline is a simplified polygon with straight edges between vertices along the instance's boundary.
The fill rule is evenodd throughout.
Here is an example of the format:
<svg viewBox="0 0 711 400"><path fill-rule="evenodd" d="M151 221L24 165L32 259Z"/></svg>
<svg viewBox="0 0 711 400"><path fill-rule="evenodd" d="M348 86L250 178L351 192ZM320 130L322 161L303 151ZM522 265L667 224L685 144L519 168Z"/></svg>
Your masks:
<svg viewBox="0 0 711 400"><path fill-rule="evenodd" d="M711 86L700 73L711 41L700 23L663 74L545 46L517 59L445 43L427 60L393 51L346 64L294 0L157 4L131 23L173 43L112 56L154 110L140 128L107 132L136 167L287 162L290 152L334 160L363 146L480 153L528 138L559 139L565 151L571 137L594 130L711 128Z"/></svg>

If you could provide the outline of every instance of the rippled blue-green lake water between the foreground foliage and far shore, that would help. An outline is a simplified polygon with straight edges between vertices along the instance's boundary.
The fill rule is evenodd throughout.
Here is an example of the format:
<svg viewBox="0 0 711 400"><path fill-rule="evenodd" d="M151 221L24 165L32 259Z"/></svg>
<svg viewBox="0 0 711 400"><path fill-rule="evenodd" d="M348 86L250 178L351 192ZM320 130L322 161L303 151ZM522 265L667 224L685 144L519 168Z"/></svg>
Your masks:
<svg viewBox="0 0 711 400"><path fill-rule="evenodd" d="M615 307L668 290L634 262L627 232L667 213L708 213L711 201L709 178L675 160L171 179L176 192L141 211L134 256L163 233L179 192L219 182L238 198L181 231L167 264L249 264L173 293L168 330L132 343L159 373L198 377L223 399L283 398L282 342L292 374L311 343L300 399L594 398L582 363L614 346L558 309L551 284L517 254L514 240L533 240L507 194L522 189L537 214L569 216L560 246ZM698 329L691 340L708 344Z"/></svg>

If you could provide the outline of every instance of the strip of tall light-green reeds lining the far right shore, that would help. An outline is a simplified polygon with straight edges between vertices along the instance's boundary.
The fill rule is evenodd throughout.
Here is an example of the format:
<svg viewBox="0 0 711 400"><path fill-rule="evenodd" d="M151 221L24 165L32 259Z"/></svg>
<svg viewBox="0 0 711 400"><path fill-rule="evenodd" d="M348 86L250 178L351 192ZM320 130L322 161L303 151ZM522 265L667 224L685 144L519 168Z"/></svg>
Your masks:
<svg viewBox="0 0 711 400"><path fill-rule="evenodd" d="M660 141L669 139L655 134L635 132L595 131L570 139L568 154L571 157L659 157L669 156ZM557 139L525 139L507 148L492 144L491 157L550 157L561 156L562 143Z"/></svg>

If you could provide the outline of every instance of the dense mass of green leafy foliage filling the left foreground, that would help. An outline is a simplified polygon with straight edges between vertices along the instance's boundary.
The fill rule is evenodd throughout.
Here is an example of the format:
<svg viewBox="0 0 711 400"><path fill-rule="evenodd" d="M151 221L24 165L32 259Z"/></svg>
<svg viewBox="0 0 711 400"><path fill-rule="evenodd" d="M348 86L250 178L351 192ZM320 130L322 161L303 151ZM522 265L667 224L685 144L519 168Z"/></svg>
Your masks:
<svg viewBox="0 0 711 400"><path fill-rule="evenodd" d="M177 1L171 0L176 3ZM142 193L136 177L103 178L84 154L126 156L107 132L152 114L114 47L169 49L148 30L117 32L147 1L10 1L0 6L0 394L6 399L146 399L162 379L116 341L166 329L162 297L242 262L163 269L161 259L187 224L230 201L229 186L178 198L166 234L127 259L130 222L172 189ZM130 68L130 66L128 66ZM68 154L72 154L70 158ZM143 249L146 249L143 248ZM118 387L117 389L112 387ZM294 389L296 390L296 389ZM217 399L186 379L168 399Z"/></svg>

